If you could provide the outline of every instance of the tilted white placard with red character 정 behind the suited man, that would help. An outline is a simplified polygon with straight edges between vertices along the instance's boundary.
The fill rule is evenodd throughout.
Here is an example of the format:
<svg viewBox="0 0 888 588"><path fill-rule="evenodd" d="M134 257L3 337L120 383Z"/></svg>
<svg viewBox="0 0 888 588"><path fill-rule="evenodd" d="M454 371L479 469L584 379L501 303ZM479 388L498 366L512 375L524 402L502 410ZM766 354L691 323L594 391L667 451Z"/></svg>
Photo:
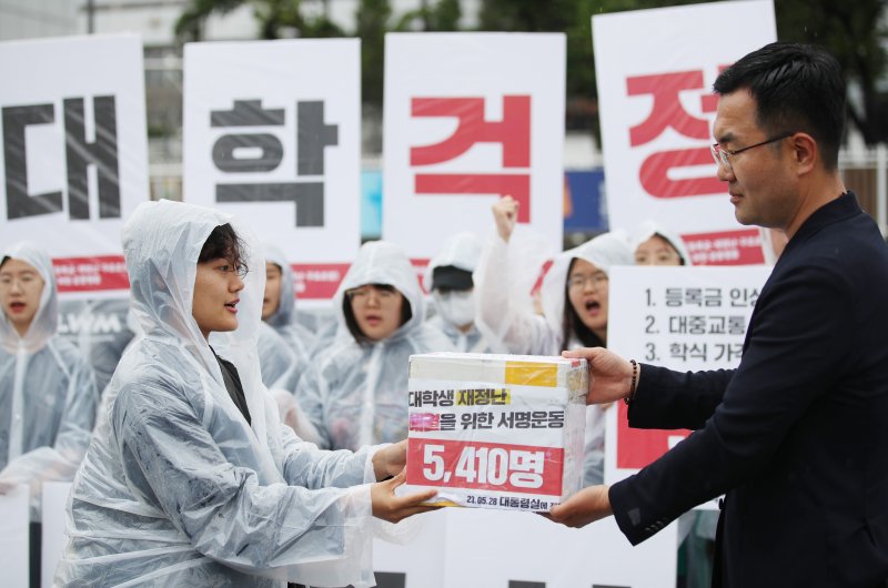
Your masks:
<svg viewBox="0 0 888 588"><path fill-rule="evenodd" d="M737 224L716 178L712 85L777 39L771 0L596 14L592 27L610 226L656 219L682 234L694 264L761 263L758 229Z"/></svg>

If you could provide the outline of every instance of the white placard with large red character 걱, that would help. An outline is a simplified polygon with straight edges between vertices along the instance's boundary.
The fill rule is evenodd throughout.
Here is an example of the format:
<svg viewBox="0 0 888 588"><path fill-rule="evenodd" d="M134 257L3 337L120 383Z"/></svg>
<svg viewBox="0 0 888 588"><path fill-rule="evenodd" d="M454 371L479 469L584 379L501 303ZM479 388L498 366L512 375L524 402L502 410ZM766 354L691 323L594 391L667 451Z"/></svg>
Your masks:
<svg viewBox="0 0 888 588"><path fill-rule="evenodd" d="M383 239L428 258L486 235L512 195L518 222L562 249L565 36L385 36Z"/></svg>

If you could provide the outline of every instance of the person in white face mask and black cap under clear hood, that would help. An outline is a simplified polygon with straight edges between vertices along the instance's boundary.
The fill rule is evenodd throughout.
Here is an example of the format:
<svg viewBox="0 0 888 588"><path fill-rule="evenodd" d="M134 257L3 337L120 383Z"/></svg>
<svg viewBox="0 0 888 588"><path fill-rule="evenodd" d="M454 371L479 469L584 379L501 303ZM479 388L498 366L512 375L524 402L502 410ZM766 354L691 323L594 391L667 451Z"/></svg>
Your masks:
<svg viewBox="0 0 888 588"><path fill-rule="evenodd" d="M472 272L481 249L481 241L472 233L453 235L428 263L425 275L437 311L428 323L447 335L458 352L493 353L487 339L475 327Z"/></svg>

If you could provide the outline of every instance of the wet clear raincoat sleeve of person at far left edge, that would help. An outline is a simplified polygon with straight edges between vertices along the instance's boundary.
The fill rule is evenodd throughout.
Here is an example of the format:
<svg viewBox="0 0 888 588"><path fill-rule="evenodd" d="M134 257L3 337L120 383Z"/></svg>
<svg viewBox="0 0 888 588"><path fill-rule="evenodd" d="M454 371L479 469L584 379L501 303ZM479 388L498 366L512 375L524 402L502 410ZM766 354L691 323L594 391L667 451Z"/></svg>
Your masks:
<svg viewBox="0 0 888 588"><path fill-rule="evenodd" d="M50 342L46 351L52 353L61 373L68 376L56 439L52 445L37 447L19 455L0 472L0 485L31 484L34 508L39 504L40 483L67 481L73 478L87 453L99 404L95 378L87 361L75 353L64 354L64 348L58 349L56 343L56 341ZM51 373L58 375L60 372ZM46 374L29 373L23 392L27 394L28 387L32 385L60 384L58 382L41 384L39 379L44 376ZM24 426L39 426L39 424L26 423Z"/></svg>

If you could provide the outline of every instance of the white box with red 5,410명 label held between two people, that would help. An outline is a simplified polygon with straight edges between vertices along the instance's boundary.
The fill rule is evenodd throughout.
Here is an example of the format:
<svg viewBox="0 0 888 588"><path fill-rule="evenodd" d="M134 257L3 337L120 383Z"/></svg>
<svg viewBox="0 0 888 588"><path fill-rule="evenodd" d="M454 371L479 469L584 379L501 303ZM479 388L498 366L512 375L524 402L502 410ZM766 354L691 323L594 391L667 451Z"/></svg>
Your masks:
<svg viewBox="0 0 888 588"><path fill-rule="evenodd" d="M433 504L547 511L583 480L585 359L431 353L410 358L407 481Z"/></svg>

